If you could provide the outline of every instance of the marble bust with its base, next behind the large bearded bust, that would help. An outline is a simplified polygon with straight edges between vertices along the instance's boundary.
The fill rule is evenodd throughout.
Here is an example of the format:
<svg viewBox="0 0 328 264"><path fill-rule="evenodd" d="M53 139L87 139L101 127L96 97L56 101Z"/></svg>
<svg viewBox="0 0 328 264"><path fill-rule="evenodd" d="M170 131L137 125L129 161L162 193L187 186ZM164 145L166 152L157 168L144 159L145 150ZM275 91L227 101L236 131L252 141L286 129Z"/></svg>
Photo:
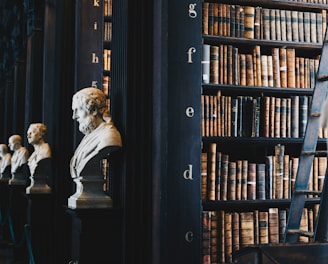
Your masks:
<svg viewBox="0 0 328 264"><path fill-rule="evenodd" d="M26 188L26 193L48 193L51 190L50 186L47 185L51 149L49 144L45 142L46 132L47 127L42 123L30 124L27 130L28 143L33 146L34 151L27 161L31 184Z"/></svg>

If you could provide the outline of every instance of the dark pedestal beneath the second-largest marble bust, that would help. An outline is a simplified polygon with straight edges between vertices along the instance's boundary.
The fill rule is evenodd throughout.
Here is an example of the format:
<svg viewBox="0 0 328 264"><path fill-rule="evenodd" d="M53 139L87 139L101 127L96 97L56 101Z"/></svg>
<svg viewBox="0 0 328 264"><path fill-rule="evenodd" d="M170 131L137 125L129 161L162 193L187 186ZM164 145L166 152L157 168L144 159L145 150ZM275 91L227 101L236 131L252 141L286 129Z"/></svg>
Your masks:
<svg viewBox="0 0 328 264"><path fill-rule="evenodd" d="M26 194L27 224L35 263L53 263L53 196Z"/></svg>

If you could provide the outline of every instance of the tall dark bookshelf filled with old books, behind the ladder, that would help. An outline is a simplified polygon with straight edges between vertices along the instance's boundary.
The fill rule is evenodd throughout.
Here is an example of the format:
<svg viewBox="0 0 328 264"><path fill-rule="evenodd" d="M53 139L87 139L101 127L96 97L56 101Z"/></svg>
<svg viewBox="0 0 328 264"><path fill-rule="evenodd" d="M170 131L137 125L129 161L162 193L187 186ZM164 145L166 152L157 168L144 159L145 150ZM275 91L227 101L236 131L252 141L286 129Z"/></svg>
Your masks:
<svg viewBox="0 0 328 264"><path fill-rule="evenodd" d="M283 241L328 5L218 0L202 8L202 260L229 263L246 246ZM326 138L320 130L318 149ZM315 157L309 189L322 188L326 164ZM306 230L318 202L308 196Z"/></svg>

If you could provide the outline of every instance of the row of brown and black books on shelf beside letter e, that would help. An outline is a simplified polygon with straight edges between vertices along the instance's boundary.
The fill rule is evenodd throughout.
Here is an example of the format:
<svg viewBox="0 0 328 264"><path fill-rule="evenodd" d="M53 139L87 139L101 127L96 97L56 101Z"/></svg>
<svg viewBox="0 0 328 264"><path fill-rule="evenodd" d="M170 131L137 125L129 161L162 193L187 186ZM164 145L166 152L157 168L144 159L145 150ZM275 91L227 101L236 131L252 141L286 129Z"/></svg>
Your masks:
<svg viewBox="0 0 328 264"><path fill-rule="evenodd" d="M301 138L312 97L202 95L203 137ZM327 138L320 128L318 138Z"/></svg>

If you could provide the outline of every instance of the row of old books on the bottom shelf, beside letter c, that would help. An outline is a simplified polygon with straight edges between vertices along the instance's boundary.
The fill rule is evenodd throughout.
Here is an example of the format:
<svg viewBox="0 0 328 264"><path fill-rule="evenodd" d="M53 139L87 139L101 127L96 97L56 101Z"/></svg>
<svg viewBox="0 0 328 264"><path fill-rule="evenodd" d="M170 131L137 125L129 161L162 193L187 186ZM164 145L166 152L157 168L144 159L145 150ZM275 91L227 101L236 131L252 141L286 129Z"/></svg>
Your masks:
<svg viewBox="0 0 328 264"><path fill-rule="evenodd" d="M250 245L283 242L288 209L268 208L267 211L225 212L203 211L203 264L233 263L232 254ZM318 205L304 208L300 228L313 232ZM310 242L300 237L300 243Z"/></svg>

